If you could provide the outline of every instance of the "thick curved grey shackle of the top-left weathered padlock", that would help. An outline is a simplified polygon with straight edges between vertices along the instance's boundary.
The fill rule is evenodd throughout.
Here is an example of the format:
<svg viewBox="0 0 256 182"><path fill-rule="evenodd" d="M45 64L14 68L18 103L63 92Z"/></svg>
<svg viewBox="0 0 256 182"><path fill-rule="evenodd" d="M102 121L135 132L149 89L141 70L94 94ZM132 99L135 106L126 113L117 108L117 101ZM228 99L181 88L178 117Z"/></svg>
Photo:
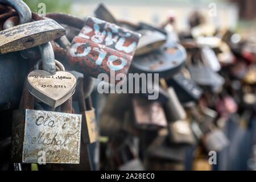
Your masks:
<svg viewBox="0 0 256 182"><path fill-rule="evenodd" d="M0 3L13 7L19 15L19 24L28 23L32 20L30 8L22 0L0 0Z"/></svg>

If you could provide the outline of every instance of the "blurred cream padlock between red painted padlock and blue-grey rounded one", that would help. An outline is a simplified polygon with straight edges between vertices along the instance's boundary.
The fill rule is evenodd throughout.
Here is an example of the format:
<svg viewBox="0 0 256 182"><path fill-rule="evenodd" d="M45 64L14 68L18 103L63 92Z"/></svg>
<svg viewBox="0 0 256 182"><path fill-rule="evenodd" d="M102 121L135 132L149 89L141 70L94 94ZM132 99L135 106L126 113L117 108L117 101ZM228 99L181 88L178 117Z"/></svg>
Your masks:
<svg viewBox="0 0 256 182"><path fill-rule="evenodd" d="M139 39L135 56L141 56L155 51L166 43L166 36L159 31L139 30L142 36Z"/></svg>

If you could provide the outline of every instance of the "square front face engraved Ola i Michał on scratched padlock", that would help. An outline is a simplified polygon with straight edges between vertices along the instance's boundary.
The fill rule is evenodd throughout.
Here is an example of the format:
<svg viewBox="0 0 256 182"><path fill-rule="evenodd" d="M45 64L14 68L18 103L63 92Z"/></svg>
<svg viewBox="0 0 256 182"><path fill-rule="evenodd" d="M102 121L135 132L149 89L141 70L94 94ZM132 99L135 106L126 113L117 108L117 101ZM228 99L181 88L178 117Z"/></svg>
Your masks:
<svg viewBox="0 0 256 182"><path fill-rule="evenodd" d="M25 112L23 163L80 163L81 114Z"/></svg>

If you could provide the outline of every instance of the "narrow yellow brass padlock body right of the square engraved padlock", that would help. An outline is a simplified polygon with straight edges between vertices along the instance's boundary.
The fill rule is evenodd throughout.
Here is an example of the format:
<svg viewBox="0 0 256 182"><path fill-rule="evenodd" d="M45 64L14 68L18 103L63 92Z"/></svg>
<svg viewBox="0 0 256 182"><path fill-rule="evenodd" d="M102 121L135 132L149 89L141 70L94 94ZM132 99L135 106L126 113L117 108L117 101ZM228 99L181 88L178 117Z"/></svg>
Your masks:
<svg viewBox="0 0 256 182"><path fill-rule="evenodd" d="M95 110L86 110L82 114L82 142L85 144L97 142L98 126L95 117Z"/></svg>

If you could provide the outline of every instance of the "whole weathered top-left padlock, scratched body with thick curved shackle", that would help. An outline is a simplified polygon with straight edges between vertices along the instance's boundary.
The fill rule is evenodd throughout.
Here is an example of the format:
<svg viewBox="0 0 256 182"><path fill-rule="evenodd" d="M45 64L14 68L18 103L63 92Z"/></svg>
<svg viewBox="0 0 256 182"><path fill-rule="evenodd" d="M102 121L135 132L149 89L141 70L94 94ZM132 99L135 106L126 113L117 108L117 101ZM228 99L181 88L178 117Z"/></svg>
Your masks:
<svg viewBox="0 0 256 182"><path fill-rule="evenodd" d="M3 25L3 28L7 29L0 31L0 53L39 46L65 35L65 29L53 19L31 22L31 11L23 1L8 0L3 3L12 6L17 11L20 24L17 26L14 26L15 23Z"/></svg>

